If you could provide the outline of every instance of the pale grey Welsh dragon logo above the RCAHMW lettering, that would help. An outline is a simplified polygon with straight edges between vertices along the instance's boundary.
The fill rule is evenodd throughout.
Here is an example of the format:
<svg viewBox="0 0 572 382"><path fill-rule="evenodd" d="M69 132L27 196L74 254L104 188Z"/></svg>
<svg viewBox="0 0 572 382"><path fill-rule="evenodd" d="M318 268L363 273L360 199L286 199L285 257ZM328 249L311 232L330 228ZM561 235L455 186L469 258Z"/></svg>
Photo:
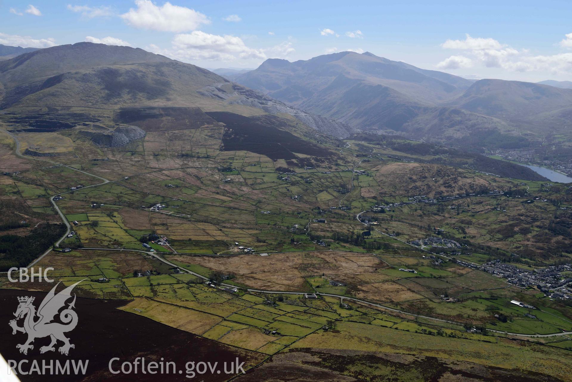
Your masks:
<svg viewBox="0 0 572 382"><path fill-rule="evenodd" d="M58 287L58 282L58 284L51 288L50 293L44 297L42 303L39 304L37 312L33 304L34 297L18 297L19 305L14 313L16 319L11 320L9 325L12 327L13 335L17 332L27 333L28 335L28 339L25 343L16 345L20 353L27 354L28 349L34 349L34 345L31 345L31 343L33 343L35 339L47 336L51 338L51 343L39 348L40 353L55 351L54 345L58 340L63 342L63 345L59 347L58 351L66 356L71 348L76 347L76 345L70 344L69 338L63 334L73 331L77 325L77 313L73 310L76 307L75 294L72 303L59 313L59 320L62 321L63 324L52 321L55 319L55 316L58 315L59 310L65 307L66 301L72 297L71 292L74 286L80 284L80 282L81 281L78 281L76 284L70 285L56 294L55 288ZM20 319L24 319L23 327L18 327L17 321Z"/></svg>

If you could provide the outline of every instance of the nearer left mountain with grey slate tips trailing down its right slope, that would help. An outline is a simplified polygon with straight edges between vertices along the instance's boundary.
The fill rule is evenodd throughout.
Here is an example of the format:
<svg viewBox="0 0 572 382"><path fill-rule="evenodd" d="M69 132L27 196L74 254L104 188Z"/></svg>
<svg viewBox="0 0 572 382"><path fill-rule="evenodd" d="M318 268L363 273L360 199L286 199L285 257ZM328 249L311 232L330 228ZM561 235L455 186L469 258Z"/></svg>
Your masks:
<svg viewBox="0 0 572 382"><path fill-rule="evenodd" d="M90 42L34 50L1 61L0 109L16 106L194 106L246 116L290 114L333 137L347 137L353 131L201 67L138 48Z"/></svg>

